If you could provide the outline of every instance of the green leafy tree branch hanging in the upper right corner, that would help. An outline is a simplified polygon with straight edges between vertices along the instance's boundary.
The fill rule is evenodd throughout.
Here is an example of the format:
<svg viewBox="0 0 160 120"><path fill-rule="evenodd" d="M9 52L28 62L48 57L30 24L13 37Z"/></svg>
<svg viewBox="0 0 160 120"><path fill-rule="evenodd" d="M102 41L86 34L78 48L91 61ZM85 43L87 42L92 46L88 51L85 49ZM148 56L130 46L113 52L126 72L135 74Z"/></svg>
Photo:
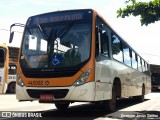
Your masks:
<svg viewBox="0 0 160 120"><path fill-rule="evenodd" d="M128 0L125 3L127 5L125 8L117 10L117 17L140 16L141 25L148 25L160 20L160 0L150 2Z"/></svg>

